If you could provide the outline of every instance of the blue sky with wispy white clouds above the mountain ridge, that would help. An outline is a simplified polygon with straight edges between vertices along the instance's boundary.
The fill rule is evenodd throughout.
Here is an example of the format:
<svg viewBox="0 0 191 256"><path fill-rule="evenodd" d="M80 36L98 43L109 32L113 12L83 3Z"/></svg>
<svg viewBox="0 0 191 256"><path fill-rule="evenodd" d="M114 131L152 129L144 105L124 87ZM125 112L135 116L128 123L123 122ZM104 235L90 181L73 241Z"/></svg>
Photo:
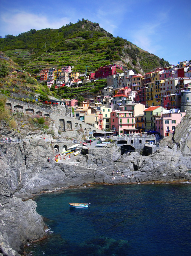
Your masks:
<svg viewBox="0 0 191 256"><path fill-rule="evenodd" d="M170 64L191 59L191 0L1 0L0 36L60 28L82 18Z"/></svg>

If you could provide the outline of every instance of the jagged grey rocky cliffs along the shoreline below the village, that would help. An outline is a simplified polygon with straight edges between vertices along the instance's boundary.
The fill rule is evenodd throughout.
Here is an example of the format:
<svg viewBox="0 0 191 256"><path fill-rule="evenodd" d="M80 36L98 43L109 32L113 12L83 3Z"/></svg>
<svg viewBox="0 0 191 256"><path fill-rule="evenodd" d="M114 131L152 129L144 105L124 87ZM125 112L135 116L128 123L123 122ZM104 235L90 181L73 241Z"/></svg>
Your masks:
<svg viewBox="0 0 191 256"><path fill-rule="evenodd" d="M163 139L159 150L148 157L139 152L121 155L120 149L111 144L105 149L89 149L88 154L75 160L56 163L49 142L37 140L37 134L27 142L0 144L0 252L18 255L28 241L45 236L36 203L21 200L33 194L86 183L189 180L190 127L190 119L185 118L176 129L174 141ZM119 171L113 179L112 170Z"/></svg>

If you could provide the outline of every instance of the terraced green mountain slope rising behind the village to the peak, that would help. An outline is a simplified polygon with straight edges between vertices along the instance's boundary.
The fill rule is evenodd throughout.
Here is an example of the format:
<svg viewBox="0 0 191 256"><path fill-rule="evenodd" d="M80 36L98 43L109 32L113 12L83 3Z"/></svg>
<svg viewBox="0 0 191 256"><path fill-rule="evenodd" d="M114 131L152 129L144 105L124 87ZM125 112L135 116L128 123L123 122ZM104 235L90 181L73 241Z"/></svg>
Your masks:
<svg viewBox="0 0 191 256"><path fill-rule="evenodd" d="M31 29L18 36L7 35L0 38L0 50L30 73L68 65L74 66L73 71L84 72L86 66L88 71L95 71L114 62L136 72L169 65L84 19L59 29Z"/></svg>

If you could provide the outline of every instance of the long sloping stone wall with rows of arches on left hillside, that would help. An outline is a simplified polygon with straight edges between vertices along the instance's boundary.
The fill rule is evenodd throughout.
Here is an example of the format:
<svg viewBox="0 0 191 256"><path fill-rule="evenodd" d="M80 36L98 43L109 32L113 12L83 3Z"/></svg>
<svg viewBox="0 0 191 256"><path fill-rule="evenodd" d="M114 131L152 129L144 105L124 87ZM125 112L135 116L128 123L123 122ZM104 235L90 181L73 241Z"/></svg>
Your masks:
<svg viewBox="0 0 191 256"><path fill-rule="evenodd" d="M50 117L55 122L55 126L60 130L60 132L72 131L83 129L86 135L89 132L99 131L94 126L90 126L74 117L69 117L66 113L65 107L63 105L58 106L37 106L36 104L30 104L27 102L19 101L17 99L7 98L6 106L12 111L22 112L23 114L32 114ZM70 114L70 113L69 113Z"/></svg>

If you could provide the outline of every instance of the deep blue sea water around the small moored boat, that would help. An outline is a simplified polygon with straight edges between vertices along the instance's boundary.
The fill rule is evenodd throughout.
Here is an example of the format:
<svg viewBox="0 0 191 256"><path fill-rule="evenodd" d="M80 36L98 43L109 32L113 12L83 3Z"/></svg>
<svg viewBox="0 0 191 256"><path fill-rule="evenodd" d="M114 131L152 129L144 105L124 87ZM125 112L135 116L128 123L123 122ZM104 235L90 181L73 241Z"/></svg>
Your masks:
<svg viewBox="0 0 191 256"><path fill-rule="evenodd" d="M95 185L36 202L53 233L27 248L34 256L191 254L191 184Z"/></svg>

